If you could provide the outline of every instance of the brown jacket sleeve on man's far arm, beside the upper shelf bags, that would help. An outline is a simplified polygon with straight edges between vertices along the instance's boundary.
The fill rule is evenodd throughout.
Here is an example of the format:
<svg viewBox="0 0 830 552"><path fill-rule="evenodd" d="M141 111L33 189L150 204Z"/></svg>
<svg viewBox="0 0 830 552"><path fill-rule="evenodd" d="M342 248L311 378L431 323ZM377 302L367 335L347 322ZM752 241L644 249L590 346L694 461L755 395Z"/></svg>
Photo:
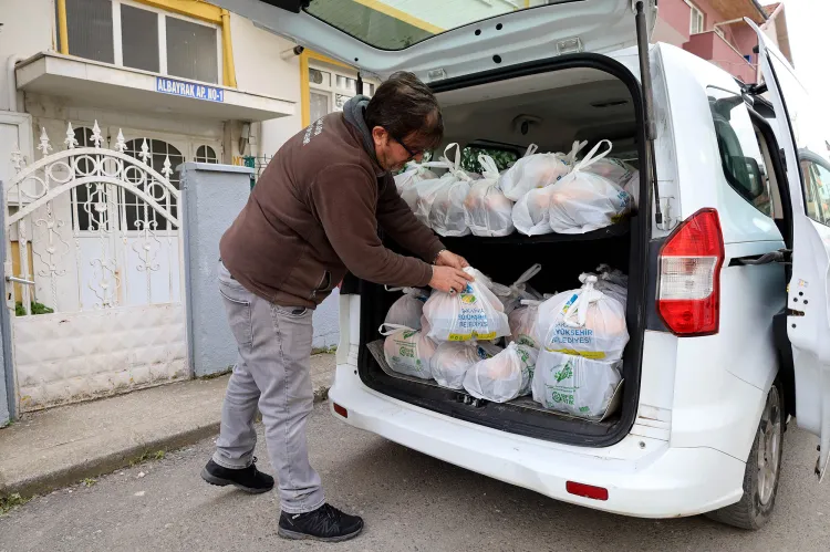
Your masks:
<svg viewBox="0 0 830 552"><path fill-rule="evenodd" d="M377 221L390 237L414 254L433 262L444 244L401 199L395 183L387 178L377 200Z"/></svg>

